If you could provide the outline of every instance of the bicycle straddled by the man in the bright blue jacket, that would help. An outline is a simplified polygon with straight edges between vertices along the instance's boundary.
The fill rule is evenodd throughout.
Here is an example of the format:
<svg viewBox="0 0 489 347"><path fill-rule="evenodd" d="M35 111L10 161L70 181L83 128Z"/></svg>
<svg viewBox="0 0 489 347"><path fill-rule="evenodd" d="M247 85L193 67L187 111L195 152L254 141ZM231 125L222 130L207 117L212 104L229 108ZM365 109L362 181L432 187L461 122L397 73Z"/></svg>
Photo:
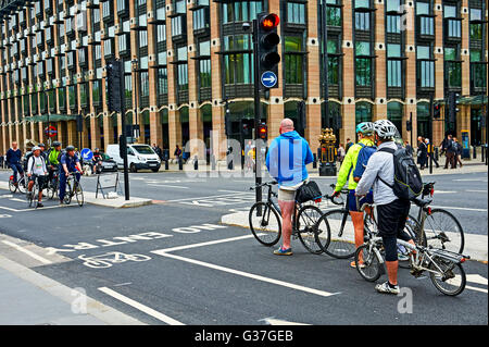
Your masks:
<svg viewBox="0 0 489 347"><path fill-rule="evenodd" d="M249 213L251 233L262 245L268 247L277 244L281 236L280 208L272 199L278 197L278 194L272 190L272 186L276 184L277 182L267 182L250 188L250 190L259 187L268 188L266 201L254 203ZM314 255L323 252L316 239L322 237L325 244L329 239L328 228L319 227L318 219L322 214L319 208L313 205L299 203L294 205L292 213L292 237L299 238L305 249Z"/></svg>

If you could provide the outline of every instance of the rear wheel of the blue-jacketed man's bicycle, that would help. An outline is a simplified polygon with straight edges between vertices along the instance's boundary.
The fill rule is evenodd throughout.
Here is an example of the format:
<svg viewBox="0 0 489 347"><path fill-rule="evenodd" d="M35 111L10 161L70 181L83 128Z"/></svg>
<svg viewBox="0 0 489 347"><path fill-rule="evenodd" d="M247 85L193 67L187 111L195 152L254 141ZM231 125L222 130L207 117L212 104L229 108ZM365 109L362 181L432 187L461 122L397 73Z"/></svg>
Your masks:
<svg viewBox="0 0 489 347"><path fill-rule="evenodd" d="M322 243L329 244L329 228L326 222L318 223L322 215L323 212L313 205L301 207L297 214L297 235L305 249L313 255L323 252ZM319 235L322 240L319 240Z"/></svg>

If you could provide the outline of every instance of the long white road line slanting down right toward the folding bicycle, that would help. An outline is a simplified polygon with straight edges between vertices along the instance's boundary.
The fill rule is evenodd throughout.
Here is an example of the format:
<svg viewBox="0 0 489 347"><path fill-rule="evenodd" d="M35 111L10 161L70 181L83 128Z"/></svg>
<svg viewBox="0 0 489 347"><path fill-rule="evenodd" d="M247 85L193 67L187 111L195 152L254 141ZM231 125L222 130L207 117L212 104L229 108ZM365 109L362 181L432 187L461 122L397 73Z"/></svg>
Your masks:
<svg viewBox="0 0 489 347"><path fill-rule="evenodd" d="M253 274L253 273L244 272L244 271L234 270L234 269L229 269L229 268L212 264L212 263L200 261L200 260L195 260L195 259L190 259L190 258L185 258L185 257L180 257L180 256L171 255L171 253L167 253L167 252L164 252L164 251L163 252L162 251L152 251L152 252L155 253L155 255L162 256L162 257L172 258L172 259L176 259L176 260L181 260L181 261L189 262L189 263L192 263L192 264L196 264L196 265L201 265L201 267L205 267L205 268L210 268L210 269L214 269L214 270L231 273L231 274L235 274L235 275L238 275L238 276L253 278L253 280L258 280L258 281L262 281L262 282L266 282L266 283L271 283L271 284L276 284L276 285L279 285L279 286L283 286L283 287L287 287L287 288L291 288L291 289L296 289L296 290L301 290L301 292L318 295L318 296L322 296L322 297L329 297L329 296L333 296L333 295L340 294L340 293L329 293L329 292L325 292L325 290L318 290L318 289L314 289L314 288L309 288L309 287L304 287L304 286L297 285L297 284L293 284L293 283L288 283L288 282L284 282L284 281L279 281L279 280L274 280L274 278L256 275L256 274Z"/></svg>

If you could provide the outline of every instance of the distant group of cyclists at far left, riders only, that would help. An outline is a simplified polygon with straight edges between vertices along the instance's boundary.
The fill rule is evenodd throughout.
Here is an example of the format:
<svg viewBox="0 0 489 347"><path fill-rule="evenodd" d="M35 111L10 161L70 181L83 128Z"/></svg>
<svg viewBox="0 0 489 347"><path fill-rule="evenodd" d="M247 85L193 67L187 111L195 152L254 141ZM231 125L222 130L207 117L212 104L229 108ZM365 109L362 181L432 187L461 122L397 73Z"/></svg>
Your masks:
<svg viewBox="0 0 489 347"><path fill-rule="evenodd" d="M25 168L22 164L22 151L16 141L12 142L12 147L7 151L7 164L13 171L13 184L18 185L17 175L24 177L24 172L27 174L27 194L32 194L33 186L37 179L39 187L47 188L49 182L53 182L57 176L59 179L60 205L64 202L66 194L66 181L70 175L75 175L77 182L82 176L82 165L74 146L66 146L62 150L61 142L53 141L51 148L46 150L45 144L35 146L30 152L25 157L27 163ZM25 169L25 170L24 170ZM42 206L42 189L39 189L37 205Z"/></svg>

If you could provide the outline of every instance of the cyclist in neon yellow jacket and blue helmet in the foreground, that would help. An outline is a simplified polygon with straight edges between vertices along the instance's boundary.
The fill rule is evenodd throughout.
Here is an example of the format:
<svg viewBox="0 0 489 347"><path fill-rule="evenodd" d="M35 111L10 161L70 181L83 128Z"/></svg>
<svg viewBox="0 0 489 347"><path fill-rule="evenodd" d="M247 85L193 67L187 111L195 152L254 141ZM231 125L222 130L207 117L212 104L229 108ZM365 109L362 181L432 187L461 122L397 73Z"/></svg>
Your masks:
<svg viewBox="0 0 489 347"><path fill-rule="evenodd" d="M363 212L359 212L356 208L355 200L355 188L358 183L353 177L353 172L356 166L356 159L359 157L360 150L364 147L374 147L374 124L371 122L364 122L356 125L356 134L359 136L359 142L350 146L344 156L343 162L341 163L340 171L338 173L338 178L336 182L334 197L338 196L347 184L348 181L348 189L350 190L347 199L347 206L350 211L351 220L353 221L353 228L355 231L355 246L360 247L363 239ZM367 196L364 201L361 203L371 202L372 196ZM351 262L351 267L355 268L355 262Z"/></svg>

